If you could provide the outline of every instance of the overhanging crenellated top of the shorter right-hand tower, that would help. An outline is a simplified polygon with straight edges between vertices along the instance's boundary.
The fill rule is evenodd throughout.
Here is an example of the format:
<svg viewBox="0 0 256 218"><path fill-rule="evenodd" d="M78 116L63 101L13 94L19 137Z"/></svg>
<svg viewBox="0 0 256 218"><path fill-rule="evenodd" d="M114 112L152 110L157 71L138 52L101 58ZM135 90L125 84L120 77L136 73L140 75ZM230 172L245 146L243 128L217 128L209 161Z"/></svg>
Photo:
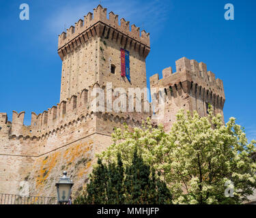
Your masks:
<svg viewBox="0 0 256 218"><path fill-rule="evenodd" d="M151 76L150 87L164 88L167 100L185 93L223 109L225 103L223 80L216 79L215 74L207 70L205 63L198 63L186 57L175 63L175 73L171 67L168 67L162 70L162 79L159 80L159 74Z"/></svg>

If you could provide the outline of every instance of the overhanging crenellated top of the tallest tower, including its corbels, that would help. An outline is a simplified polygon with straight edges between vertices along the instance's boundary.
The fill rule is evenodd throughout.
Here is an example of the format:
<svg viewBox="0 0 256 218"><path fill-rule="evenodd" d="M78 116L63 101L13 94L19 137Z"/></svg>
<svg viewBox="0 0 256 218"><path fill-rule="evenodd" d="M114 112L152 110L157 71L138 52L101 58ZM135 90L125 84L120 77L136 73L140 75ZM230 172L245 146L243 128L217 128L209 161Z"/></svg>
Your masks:
<svg viewBox="0 0 256 218"><path fill-rule="evenodd" d="M140 50L141 54L147 57L150 52L150 33L144 30L140 32L140 28L131 25L124 18L118 23L118 15L109 12L109 19L106 18L106 8L101 5L94 8L94 14L89 12L84 16L84 20L80 19L67 29L66 32L59 35L58 54L63 57L77 46L88 42L91 37L106 37L119 41L120 44L132 44L135 50Z"/></svg>

